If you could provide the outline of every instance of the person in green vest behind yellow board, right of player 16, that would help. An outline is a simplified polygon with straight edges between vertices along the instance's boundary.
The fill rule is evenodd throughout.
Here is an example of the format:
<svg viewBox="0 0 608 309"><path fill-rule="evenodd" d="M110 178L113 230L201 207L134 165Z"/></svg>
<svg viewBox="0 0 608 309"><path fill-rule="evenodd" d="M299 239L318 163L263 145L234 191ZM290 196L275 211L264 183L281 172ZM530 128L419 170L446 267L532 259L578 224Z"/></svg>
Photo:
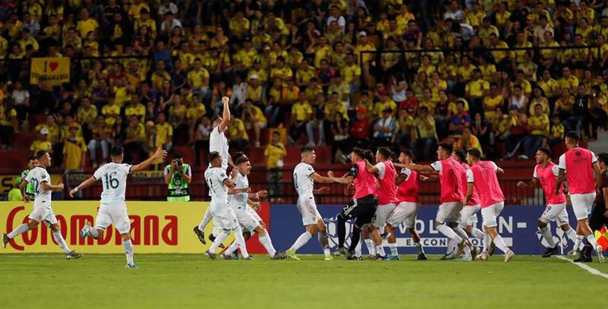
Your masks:
<svg viewBox="0 0 608 309"><path fill-rule="evenodd" d="M188 202L190 200L188 183L192 180L190 166L183 163L181 153L175 153L173 158L171 164L164 170L165 183L169 185L167 200L169 202Z"/></svg>

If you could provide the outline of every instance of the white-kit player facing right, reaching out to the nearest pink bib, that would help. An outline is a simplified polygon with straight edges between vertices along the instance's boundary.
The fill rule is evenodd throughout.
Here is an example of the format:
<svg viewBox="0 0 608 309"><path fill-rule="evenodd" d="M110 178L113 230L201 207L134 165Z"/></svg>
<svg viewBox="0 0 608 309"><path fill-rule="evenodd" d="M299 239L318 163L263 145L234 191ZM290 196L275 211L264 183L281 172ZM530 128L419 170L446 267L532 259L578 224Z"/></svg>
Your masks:
<svg viewBox="0 0 608 309"><path fill-rule="evenodd" d="M301 151L302 161L294 168L294 187L298 193L297 207L302 214L302 224L306 227L306 232L302 233L296 242L292 244L287 251L281 255L286 255L289 259L299 260L296 255L298 249L306 244L316 232L319 232L319 244L325 254L325 261L331 261L331 252L329 251L329 241L326 235L326 226L323 217L316 209L314 202L315 194L329 193L329 188L321 187L314 189L314 182L317 183L334 183L331 178L323 177L314 171L312 164L316 161L316 153L313 146L303 146Z"/></svg>

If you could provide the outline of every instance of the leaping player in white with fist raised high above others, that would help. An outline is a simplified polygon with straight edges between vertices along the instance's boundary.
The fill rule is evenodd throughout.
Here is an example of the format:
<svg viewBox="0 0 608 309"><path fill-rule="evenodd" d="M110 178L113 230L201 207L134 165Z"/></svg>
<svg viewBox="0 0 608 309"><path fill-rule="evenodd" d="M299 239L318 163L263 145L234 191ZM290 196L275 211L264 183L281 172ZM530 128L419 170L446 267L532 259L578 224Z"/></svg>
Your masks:
<svg viewBox="0 0 608 309"><path fill-rule="evenodd" d="M228 139L226 139L225 136L225 131L228 130L228 123L230 122L230 105L228 104L230 102L230 98L222 97L222 102L224 104L222 116L215 116L213 118L213 121L211 121L211 126L213 127L213 129L211 130L211 133L209 135L209 153L216 151L220 154L220 156L222 157L221 168L222 170L224 170L224 173L226 173L226 170L228 169L228 163L230 163L230 166L234 166L233 160L230 157L230 153L228 153ZM211 167L210 161L209 167ZM211 192L209 192L209 196L211 196ZM207 211L203 216L203 220L201 220L201 224L198 224L198 227L194 227L193 229L194 234L196 234L198 240L203 244L207 244L207 241L205 239L205 227L211 220L211 217L212 216L210 209L207 208ZM219 233L219 227L216 224L214 224L214 232L209 235L209 239L211 242L215 240L214 233ZM223 247L223 244L220 244L220 248Z"/></svg>

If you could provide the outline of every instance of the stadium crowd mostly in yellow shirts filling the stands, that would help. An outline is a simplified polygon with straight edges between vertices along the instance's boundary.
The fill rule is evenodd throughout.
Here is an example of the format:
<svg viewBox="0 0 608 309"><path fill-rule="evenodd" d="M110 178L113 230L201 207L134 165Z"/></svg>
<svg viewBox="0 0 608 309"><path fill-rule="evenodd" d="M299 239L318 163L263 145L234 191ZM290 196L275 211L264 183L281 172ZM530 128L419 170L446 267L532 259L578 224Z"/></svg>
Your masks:
<svg viewBox="0 0 608 309"><path fill-rule="evenodd" d="M608 124L607 1L5 0L0 23L2 148L33 129L68 170L116 143L201 164L223 96L232 149L284 128L336 162L439 141L526 160ZM71 82L30 85L33 57L70 58Z"/></svg>

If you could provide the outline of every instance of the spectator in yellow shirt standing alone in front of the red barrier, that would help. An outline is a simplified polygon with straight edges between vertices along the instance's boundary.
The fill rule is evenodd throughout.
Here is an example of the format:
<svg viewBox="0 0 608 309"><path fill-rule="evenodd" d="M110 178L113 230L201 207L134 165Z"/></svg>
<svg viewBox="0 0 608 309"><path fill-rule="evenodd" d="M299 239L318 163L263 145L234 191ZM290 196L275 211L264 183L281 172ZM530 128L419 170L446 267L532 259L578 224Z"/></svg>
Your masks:
<svg viewBox="0 0 608 309"><path fill-rule="evenodd" d="M272 139L264 150L266 157L266 168L268 170L268 195L274 197L281 194L280 183L282 180L282 168L284 166L283 158L287 156L287 150L280 141L281 134L279 131L272 132Z"/></svg>

